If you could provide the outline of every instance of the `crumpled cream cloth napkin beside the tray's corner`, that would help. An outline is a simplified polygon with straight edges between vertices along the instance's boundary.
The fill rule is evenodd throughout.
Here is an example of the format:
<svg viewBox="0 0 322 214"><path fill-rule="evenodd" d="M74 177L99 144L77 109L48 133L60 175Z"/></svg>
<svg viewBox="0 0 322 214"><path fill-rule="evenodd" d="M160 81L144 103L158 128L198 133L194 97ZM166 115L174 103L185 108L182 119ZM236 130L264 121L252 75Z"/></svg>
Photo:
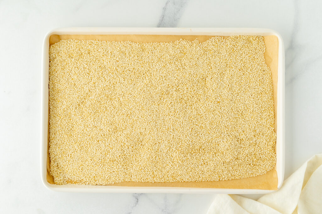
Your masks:
<svg viewBox="0 0 322 214"><path fill-rule="evenodd" d="M278 191L259 200L217 194L207 214L315 214L322 213L322 154L294 172Z"/></svg>

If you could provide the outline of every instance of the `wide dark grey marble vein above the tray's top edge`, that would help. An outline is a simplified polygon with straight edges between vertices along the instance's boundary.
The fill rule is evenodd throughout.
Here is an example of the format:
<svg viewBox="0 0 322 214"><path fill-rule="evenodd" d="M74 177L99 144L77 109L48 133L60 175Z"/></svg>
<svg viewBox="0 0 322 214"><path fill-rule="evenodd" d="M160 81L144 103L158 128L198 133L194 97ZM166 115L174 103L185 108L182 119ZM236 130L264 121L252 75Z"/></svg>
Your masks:
<svg viewBox="0 0 322 214"><path fill-rule="evenodd" d="M188 0L167 0L157 27L176 27Z"/></svg>

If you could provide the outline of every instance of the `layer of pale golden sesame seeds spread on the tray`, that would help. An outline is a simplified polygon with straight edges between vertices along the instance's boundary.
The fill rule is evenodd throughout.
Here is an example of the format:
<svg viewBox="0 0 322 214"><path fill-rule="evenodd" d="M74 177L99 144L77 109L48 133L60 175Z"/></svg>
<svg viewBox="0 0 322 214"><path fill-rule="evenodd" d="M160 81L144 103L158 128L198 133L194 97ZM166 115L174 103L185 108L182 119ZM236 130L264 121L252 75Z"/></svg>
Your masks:
<svg viewBox="0 0 322 214"><path fill-rule="evenodd" d="M219 181L276 163L260 36L61 40L49 49L56 184Z"/></svg>

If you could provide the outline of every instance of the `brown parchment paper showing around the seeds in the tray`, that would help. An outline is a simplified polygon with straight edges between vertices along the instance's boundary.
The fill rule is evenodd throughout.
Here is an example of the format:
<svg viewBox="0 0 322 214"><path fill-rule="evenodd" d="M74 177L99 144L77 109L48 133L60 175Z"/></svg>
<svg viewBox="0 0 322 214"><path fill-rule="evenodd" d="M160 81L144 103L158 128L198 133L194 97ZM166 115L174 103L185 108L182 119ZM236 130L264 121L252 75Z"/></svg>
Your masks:
<svg viewBox="0 0 322 214"><path fill-rule="evenodd" d="M179 39L195 40L204 42L212 36L204 35L51 35L49 44L55 44L62 39L79 39L79 40L99 40L99 41L132 41L132 42L172 42ZM228 36L223 36L227 38ZM266 51L264 53L265 62L272 72L273 81L273 98L276 132L277 116L277 74L278 74L278 38L274 35L264 36ZM48 107L49 108L49 107ZM49 112L49 111L48 111ZM49 114L49 113L48 113ZM49 117L48 117L49 118ZM276 146L275 146L276 152ZM47 144L47 181L54 183L53 176L50 174L50 157L49 157L49 121L48 121L48 144ZM70 181L71 183L75 183ZM201 182L121 182L109 184L107 186L136 186L136 187L188 187L188 188L227 188L227 189L260 189L260 190L277 190L277 172L276 165L273 170L266 174L235 179L229 181L201 181Z"/></svg>

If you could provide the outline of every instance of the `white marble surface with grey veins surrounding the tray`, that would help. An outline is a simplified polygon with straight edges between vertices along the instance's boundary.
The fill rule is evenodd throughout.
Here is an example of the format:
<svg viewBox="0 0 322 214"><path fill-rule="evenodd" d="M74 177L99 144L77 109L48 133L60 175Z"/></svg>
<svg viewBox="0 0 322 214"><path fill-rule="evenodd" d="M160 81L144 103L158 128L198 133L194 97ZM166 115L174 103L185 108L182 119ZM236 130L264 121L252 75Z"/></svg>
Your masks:
<svg viewBox="0 0 322 214"><path fill-rule="evenodd" d="M322 153L321 1L0 1L0 213L206 213L214 195L87 194L40 179L41 45L57 27L260 27L286 47L286 170Z"/></svg>

